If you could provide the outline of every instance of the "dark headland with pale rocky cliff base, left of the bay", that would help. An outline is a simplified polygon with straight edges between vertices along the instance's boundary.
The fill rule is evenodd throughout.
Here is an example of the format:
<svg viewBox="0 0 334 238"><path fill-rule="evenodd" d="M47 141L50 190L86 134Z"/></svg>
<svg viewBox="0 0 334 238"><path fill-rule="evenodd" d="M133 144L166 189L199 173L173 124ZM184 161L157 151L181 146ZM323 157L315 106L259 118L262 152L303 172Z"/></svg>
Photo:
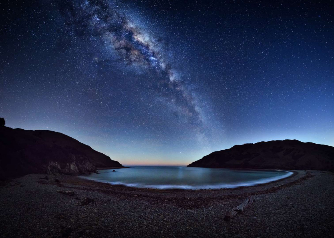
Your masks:
<svg viewBox="0 0 334 238"><path fill-rule="evenodd" d="M123 166L59 132L0 127L0 178L29 173L80 174L96 167Z"/></svg>

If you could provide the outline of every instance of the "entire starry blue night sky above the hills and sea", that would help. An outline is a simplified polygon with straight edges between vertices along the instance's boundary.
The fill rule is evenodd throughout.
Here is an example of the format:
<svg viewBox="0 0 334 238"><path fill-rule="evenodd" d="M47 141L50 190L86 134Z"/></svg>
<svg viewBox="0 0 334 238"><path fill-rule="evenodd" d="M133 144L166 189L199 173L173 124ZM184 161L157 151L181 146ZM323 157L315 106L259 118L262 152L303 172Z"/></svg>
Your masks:
<svg viewBox="0 0 334 238"><path fill-rule="evenodd" d="M1 1L0 117L123 165L334 146L331 1Z"/></svg>

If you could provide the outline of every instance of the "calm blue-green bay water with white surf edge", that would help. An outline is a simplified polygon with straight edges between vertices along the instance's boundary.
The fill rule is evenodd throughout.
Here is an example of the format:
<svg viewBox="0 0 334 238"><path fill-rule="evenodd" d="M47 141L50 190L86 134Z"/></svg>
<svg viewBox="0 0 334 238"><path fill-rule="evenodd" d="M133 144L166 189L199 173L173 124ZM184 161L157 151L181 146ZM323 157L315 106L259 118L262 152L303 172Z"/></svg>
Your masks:
<svg viewBox="0 0 334 238"><path fill-rule="evenodd" d="M134 166L100 170L100 174L82 176L95 181L140 188L218 189L267 183L288 177L289 171L233 170L188 167Z"/></svg>

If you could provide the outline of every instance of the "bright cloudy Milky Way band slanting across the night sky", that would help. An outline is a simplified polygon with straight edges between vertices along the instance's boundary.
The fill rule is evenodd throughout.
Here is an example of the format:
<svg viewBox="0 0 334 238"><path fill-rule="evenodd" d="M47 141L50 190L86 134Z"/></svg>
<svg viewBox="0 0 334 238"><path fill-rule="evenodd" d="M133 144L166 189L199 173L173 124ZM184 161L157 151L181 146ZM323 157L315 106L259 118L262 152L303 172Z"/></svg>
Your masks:
<svg viewBox="0 0 334 238"><path fill-rule="evenodd" d="M108 1L71 1L61 9L71 33L103 42L106 50L127 65L155 72L157 83L172 89L172 93L164 94L169 108L186 118L201 142L206 140L204 121L194 95L166 57L160 39L151 36Z"/></svg>

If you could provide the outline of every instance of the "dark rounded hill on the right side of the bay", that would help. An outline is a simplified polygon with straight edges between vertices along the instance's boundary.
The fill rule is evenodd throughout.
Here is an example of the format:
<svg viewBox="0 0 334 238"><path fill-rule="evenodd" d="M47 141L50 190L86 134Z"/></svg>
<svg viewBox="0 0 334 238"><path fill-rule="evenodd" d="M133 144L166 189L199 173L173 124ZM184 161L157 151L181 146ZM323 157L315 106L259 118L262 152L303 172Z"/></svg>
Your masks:
<svg viewBox="0 0 334 238"><path fill-rule="evenodd" d="M298 140L235 145L187 167L333 170L334 147Z"/></svg>

